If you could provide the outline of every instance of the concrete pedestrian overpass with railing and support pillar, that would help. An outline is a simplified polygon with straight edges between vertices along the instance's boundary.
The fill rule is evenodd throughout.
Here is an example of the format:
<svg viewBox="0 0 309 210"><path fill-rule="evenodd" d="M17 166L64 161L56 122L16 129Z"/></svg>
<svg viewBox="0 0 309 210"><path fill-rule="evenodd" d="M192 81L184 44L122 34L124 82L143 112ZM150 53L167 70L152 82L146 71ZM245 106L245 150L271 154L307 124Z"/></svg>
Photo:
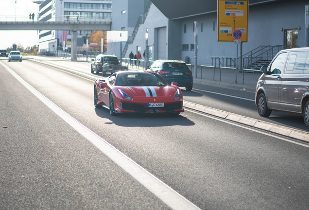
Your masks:
<svg viewBox="0 0 309 210"><path fill-rule="evenodd" d="M96 17L82 17L82 16L57 16L49 21L36 20L32 21L29 16L0 16L0 30L59 30L72 31L71 38L71 60L77 60L77 31L93 31L102 30L110 31L111 20L96 18Z"/></svg>

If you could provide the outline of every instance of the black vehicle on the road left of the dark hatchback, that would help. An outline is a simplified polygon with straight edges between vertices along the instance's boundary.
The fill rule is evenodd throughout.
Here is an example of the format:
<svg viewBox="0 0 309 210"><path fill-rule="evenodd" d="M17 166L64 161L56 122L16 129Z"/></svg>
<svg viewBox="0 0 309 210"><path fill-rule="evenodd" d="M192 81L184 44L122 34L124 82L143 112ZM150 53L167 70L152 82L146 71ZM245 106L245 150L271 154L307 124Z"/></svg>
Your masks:
<svg viewBox="0 0 309 210"><path fill-rule="evenodd" d="M94 71L96 71L96 74L102 72L102 76L120 70L128 70L127 66L122 66L120 64L116 55L99 54L91 61L91 73L94 73Z"/></svg>

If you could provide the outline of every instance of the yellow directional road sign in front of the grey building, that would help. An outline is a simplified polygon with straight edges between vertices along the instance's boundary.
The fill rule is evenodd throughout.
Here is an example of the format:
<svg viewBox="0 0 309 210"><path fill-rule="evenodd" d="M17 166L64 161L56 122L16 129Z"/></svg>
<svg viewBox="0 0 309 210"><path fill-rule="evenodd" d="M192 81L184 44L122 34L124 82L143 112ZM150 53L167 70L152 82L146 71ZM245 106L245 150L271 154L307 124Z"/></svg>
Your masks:
<svg viewBox="0 0 309 210"><path fill-rule="evenodd" d="M233 31L242 32L241 42L248 41L248 0L217 0L219 42L233 42Z"/></svg>

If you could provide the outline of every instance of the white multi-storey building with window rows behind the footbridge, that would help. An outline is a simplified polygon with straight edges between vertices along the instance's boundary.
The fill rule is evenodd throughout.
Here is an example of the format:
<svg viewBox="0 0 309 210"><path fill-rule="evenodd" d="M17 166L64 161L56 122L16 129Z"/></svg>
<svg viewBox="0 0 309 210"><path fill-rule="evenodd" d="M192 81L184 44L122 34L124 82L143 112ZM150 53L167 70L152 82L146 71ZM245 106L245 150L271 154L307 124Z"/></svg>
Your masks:
<svg viewBox="0 0 309 210"><path fill-rule="evenodd" d="M38 21L110 21L111 5L111 0L44 0L39 5L37 18ZM90 32L79 30L77 37L81 38ZM67 33L67 41L70 43L72 31ZM62 35L63 31L38 31L40 51L54 52L62 49Z"/></svg>

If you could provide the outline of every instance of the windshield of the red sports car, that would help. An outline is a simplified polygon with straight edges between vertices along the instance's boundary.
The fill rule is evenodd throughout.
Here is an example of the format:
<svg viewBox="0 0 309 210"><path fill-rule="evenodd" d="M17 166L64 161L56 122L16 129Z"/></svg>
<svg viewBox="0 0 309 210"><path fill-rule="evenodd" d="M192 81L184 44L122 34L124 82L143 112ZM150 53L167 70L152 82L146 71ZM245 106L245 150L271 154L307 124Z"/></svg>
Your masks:
<svg viewBox="0 0 309 210"><path fill-rule="evenodd" d="M167 86L162 77L153 73L121 73L117 76L116 86Z"/></svg>

